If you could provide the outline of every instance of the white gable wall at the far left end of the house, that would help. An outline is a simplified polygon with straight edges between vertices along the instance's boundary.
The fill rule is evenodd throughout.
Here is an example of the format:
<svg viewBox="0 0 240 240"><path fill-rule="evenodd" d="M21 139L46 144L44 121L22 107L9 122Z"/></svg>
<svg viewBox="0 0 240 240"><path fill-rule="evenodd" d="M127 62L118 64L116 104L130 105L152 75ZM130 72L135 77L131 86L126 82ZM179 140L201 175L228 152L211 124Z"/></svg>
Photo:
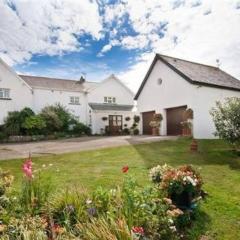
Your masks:
<svg viewBox="0 0 240 240"><path fill-rule="evenodd" d="M0 88L10 89L11 100L0 99L0 124L10 111L32 108L32 90L5 63L0 61Z"/></svg>

